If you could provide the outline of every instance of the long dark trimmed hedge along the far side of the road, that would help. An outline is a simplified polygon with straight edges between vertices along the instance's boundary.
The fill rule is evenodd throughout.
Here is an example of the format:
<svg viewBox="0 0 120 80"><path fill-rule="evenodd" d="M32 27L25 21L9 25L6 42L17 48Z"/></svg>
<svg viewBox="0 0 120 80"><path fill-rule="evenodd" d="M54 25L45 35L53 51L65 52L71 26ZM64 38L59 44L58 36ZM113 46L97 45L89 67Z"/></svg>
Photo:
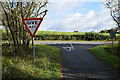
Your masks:
<svg viewBox="0 0 120 80"><path fill-rule="evenodd" d="M120 35L117 36L116 40L120 38ZM103 35L99 33L94 33L94 32L87 32L85 34L76 34L76 35L57 35L57 34L51 34L51 35L35 35L34 36L35 40L108 40L110 41L109 35ZM7 35L6 33L2 33L2 40L7 40Z"/></svg>

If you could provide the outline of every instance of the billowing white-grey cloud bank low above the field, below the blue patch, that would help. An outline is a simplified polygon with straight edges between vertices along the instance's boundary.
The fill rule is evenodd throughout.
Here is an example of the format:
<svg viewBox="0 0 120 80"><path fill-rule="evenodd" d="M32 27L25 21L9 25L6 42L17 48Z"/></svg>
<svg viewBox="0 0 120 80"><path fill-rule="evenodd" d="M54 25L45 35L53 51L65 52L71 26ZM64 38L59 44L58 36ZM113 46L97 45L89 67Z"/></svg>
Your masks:
<svg viewBox="0 0 120 80"><path fill-rule="evenodd" d="M109 15L109 10L104 9L100 13L95 13L94 10L90 10L86 15L75 13L70 15L71 17L65 17L54 22L46 30L54 31L74 31L80 32L87 31L100 31L102 29L109 29L114 26L114 21Z"/></svg>

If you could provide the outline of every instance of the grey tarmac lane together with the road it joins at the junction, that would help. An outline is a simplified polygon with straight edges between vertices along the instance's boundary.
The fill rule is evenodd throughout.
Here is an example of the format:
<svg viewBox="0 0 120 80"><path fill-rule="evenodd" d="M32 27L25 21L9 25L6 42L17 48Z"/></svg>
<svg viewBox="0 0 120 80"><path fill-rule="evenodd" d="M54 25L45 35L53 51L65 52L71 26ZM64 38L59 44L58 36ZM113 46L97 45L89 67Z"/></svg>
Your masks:
<svg viewBox="0 0 120 80"><path fill-rule="evenodd" d="M103 45L104 42L37 41L35 43L60 48L63 78L120 78L116 71L89 51L90 48Z"/></svg>

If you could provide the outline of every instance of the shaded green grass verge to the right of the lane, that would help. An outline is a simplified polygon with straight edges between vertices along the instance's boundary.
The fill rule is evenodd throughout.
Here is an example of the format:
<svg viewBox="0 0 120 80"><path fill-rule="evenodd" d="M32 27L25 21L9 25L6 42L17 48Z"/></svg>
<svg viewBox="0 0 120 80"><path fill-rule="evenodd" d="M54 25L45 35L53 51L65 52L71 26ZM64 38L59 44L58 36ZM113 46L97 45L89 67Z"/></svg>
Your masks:
<svg viewBox="0 0 120 80"><path fill-rule="evenodd" d="M97 46L91 48L90 51L98 58L111 65L114 69L120 69L120 54L118 53L118 44L114 45L113 51L112 45Z"/></svg>

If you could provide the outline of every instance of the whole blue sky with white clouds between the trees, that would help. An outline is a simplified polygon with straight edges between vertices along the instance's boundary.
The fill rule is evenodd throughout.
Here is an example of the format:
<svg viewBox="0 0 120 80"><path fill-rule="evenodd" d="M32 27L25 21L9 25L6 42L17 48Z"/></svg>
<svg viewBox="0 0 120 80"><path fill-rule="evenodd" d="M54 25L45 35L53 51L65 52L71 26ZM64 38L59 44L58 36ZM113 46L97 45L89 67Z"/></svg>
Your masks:
<svg viewBox="0 0 120 80"><path fill-rule="evenodd" d="M47 9L41 31L99 32L116 27L102 0L49 0Z"/></svg>

